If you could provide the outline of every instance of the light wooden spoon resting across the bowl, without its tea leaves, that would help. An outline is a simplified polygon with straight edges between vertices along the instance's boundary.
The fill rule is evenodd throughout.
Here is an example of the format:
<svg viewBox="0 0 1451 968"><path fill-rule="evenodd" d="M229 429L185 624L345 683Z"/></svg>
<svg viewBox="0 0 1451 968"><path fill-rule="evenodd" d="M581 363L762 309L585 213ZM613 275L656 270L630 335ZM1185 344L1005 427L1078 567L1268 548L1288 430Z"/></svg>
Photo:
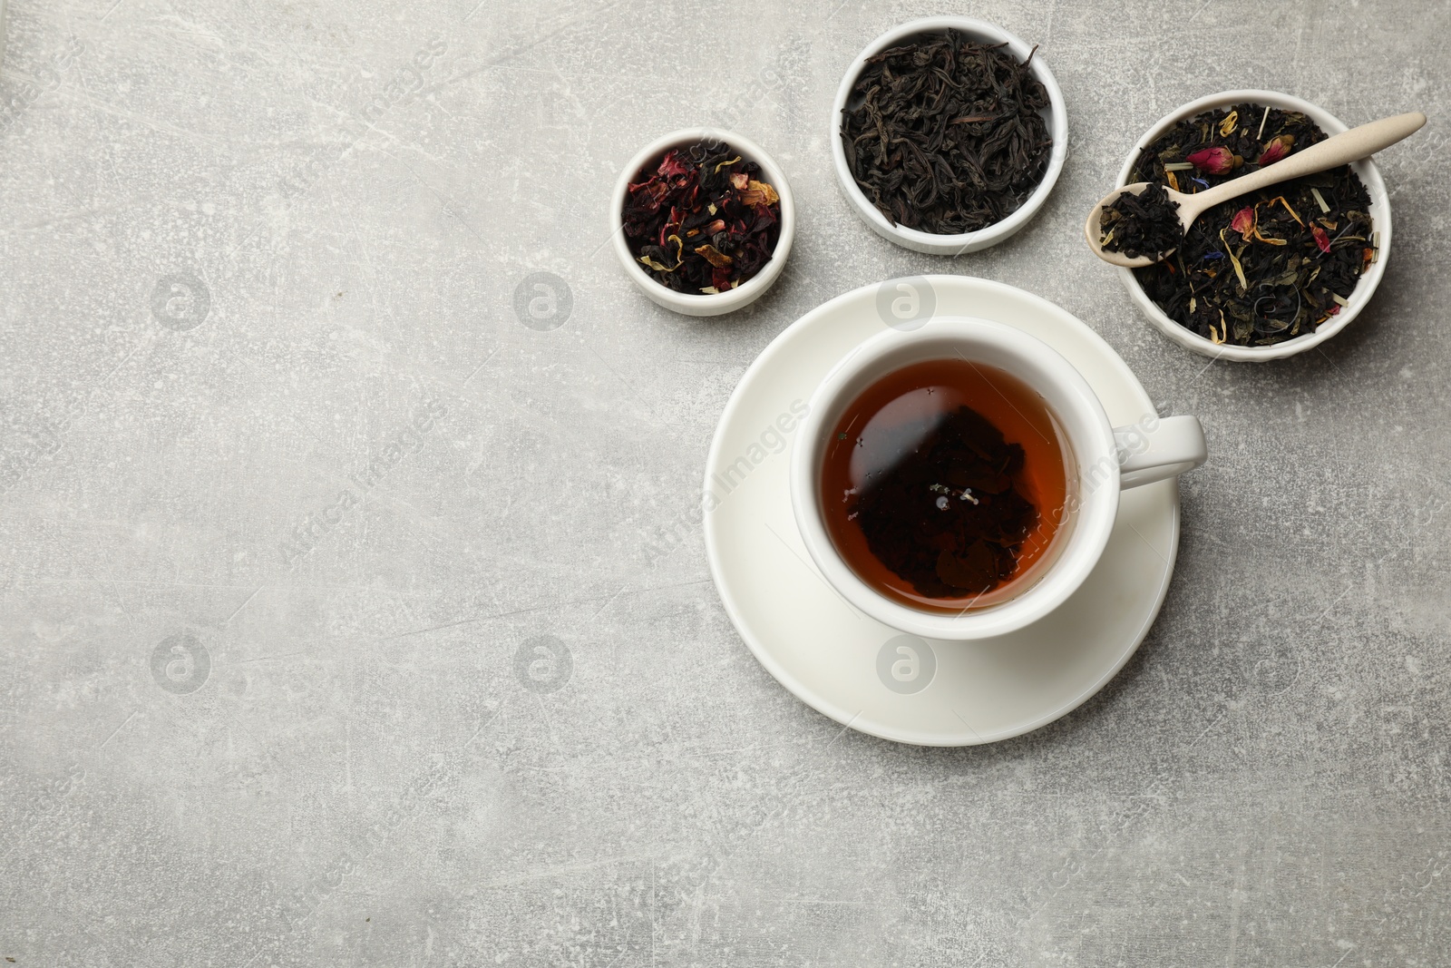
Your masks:
<svg viewBox="0 0 1451 968"><path fill-rule="evenodd" d="M1171 202L1178 203L1180 226L1187 232L1188 226L1194 223L1194 219L1203 215L1206 209L1212 209L1220 202L1228 202L1229 199L1248 194L1249 192L1255 192L1258 189L1267 189L1280 181L1288 181L1290 179L1299 179L1306 174L1315 174L1316 171L1325 171L1326 168L1349 164L1351 161L1360 161L1367 155L1376 154L1381 148L1389 148L1402 138L1413 135L1423 123L1426 123L1426 116L1421 112L1396 115L1394 118L1381 118L1380 120L1373 120L1368 125L1342 131L1333 138L1326 138L1318 145L1310 145L1304 151L1294 151L1280 161L1259 168L1259 171L1232 179L1206 192L1184 194L1183 192L1175 192L1167 187L1164 189L1164 193L1170 196ZM1088 221L1084 223L1084 238L1088 239L1088 248L1093 250L1093 254L1110 266L1138 268L1139 266L1151 266L1174 253L1174 250L1170 248L1159 253L1154 258L1148 255L1129 258L1123 253L1110 253L1104 250L1098 241L1103 238L1098 219L1103 216L1104 206L1113 205L1113 200L1125 192L1138 194L1146 187L1149 187L1148 181L1135 181L1133 184L1126 184L1122 189L1114 189L1106 194L1098 205L1093 206L1093 212L1088 213Z"/></svg>

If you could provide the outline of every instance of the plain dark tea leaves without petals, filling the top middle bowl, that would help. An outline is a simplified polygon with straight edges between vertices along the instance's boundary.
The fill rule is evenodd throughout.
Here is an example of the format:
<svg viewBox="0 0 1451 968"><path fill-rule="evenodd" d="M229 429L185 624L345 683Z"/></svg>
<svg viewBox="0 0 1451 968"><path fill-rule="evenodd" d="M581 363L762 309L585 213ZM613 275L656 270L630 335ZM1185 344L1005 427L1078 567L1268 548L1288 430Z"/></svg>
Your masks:
<svg viewBox="0 0 1451 968"><path fill-rule="evenodd" d="M1035 51L1037 48L1033 48ZM956 30L868 58L842 109L852 177L891 222L934 235L987 228L1043 180L1048 90L1007 45Z"/></svg>

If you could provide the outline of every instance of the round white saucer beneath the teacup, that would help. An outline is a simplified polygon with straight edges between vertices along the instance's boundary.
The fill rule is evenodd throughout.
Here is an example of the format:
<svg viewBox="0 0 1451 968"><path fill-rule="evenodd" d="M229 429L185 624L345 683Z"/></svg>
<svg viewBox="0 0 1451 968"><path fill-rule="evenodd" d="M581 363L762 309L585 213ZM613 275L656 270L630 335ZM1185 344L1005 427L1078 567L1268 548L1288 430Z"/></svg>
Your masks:
<svg viewBox="0 0 1451 968"><path fill-rule="evenodd" d="M802 702L855 730L921 746L972 746L1052 723L1101 689L1139 647L1168 592L1178 551L1178 485L1123 492L1098 567L1048 618L981 641L913 639L852 608L797 534L786 486L797 409L847 350L882 331L894 283L818 306L776 337L731 393L711 443L705 515L715 588L741 639ZM1154 403L1087 325L1011 286L965 276L911 280L926 312L992 319L1062 353L1114 425ZM881 295L881 293L885 293ZM785 415L786 419L782 419ZM785 437L786 447L778 447ZM744 462L744 463L743 463ZM721 485L728 480L727 492Z"/></svg>

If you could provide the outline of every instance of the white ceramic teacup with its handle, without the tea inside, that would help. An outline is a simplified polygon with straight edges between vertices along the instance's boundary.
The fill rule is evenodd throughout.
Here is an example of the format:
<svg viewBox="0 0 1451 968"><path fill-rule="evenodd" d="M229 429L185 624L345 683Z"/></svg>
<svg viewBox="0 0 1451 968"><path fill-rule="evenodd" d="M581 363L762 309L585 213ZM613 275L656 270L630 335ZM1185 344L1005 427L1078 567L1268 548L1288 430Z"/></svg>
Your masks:
<svg viewBox="0 0 1451 968"><path fill-rule="evenodd" d="M820 482L827 437L863 390L913 363L955 357L1006 370L1042 396L1072 451L1077 486L1053 538L1062 546L1036 581L997 605L936 612L888 598L842 559L823 520ZM850 605L926 639L990 639L1037 621L1078 589L1109 543L1122 489L1191 470L1204 457L1199 418L1148 414L1111 427L1088 382L1042 340L987 319L943 316L866 340L821 380L791 453L791 504L811 559Z"/></svg>

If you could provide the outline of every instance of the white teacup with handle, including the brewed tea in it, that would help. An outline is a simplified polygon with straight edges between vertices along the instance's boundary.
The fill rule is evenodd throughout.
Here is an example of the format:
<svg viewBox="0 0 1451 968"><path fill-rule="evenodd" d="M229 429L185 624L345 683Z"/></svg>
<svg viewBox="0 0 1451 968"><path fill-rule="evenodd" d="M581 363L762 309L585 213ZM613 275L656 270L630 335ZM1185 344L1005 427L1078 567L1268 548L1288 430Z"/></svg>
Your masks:
<svg viewBox="0 0 1451 968"><path fill-rule="evenodd" d="M1082 583L1122 489L1204 456L1199 419L1114 428L1046 343L937 318L872 337L826 376L798 431L791 498L847 602L913 634L985 639Z"/></svg>

